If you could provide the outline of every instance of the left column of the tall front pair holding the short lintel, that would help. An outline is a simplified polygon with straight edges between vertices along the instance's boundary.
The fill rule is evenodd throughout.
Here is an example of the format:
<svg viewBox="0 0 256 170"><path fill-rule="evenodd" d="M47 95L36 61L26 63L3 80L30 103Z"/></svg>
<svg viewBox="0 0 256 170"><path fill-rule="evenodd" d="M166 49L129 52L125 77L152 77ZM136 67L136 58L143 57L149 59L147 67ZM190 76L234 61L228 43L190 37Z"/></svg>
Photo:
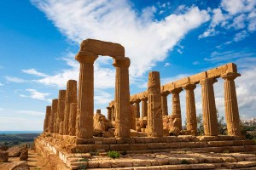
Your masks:
<svg viewBox="0 0 256 170"><path fill-rule="evenodd" d="M79 138L93 137L94 108L94 61L97 55L79 52L76 59L80 63L79 103L76 134Z"/></svg>

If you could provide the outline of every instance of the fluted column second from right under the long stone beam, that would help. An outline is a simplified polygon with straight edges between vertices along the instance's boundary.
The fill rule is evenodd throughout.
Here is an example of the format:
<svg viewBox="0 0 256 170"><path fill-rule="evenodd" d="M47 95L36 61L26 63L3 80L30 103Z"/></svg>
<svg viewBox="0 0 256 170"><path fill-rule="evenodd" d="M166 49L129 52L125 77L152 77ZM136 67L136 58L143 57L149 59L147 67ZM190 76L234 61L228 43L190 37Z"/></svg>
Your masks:
<svg viewBox="0 0 256 170"><path fill-rule="evenodd" d="M218 136L218 120L213 89L214 82L217 82L217 80L212 78L204 78L200 81L202 115L206 136Z"/></svg>

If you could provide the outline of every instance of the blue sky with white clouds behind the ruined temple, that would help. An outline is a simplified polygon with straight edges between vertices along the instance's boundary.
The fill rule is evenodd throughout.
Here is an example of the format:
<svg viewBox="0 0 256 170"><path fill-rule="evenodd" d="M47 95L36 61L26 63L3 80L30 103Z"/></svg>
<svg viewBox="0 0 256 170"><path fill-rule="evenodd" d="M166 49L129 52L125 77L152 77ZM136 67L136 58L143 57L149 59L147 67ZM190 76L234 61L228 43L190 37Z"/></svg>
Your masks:
<svg viewBox="0 0 256 170"><path fill-rule="evenodd" d="M253 0L0 1L0 130L42 130L45 106L79 78L74 55L83 39L119 42L131 59L131 94L234 62L240 115L256 116L256 2ZM113 100L113 60L95 63L95 110ZM223 81L214 84L224 115ZM195 89L201 113L201 87ZM181 105L185 119L185 93ZM168 110L172 113L171 95Z"/></svg>

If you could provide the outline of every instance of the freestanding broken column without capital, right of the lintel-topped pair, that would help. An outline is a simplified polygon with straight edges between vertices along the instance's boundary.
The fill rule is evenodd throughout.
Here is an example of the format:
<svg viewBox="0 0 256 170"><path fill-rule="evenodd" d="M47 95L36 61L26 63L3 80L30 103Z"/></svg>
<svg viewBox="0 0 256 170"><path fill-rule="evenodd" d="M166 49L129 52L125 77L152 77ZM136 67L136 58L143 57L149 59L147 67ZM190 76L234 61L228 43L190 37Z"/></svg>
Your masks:
<svg viewBox="0 0 256 170"><path fill-rule="evenodd" d="M158 71L151 71L148 74L148 136L163 136L160 73Z"/></svg>

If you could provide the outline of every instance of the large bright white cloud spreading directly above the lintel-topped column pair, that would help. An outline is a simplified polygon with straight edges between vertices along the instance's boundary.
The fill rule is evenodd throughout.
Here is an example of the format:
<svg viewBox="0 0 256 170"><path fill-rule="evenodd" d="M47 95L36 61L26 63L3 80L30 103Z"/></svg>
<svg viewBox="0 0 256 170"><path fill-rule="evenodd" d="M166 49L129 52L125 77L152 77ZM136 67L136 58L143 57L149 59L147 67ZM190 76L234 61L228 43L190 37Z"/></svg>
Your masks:
<svg viewBox="0 0 256 170"><path fill-rule="evenodd" d="M195 6L186 8L183 14L171 14L156 21L152 8L137 14L125 0L34 0L32 3L74 42L96 38L124 45L126 55L131 58L131 77L142 76L157 61L166 59L167 52L185 34L209 20L207 11Z"/></svg>

